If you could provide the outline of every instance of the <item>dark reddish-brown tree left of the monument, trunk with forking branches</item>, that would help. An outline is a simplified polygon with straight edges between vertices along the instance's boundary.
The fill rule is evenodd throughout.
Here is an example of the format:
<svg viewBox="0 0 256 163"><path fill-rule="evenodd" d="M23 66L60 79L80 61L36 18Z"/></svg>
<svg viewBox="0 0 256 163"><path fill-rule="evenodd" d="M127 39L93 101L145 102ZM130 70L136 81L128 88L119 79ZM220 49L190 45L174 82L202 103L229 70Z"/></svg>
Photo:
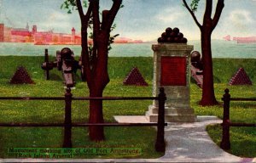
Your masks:
<svg viewBox="0 0 256 163"><path fill-rule="evenodd" d="M81 20L81 36L82 36L82 71L83 80L87 81L90 90L90 98L101 98L104 88L109 82L108 76L108 41L113 25L113 20L121 8L122 0L113 0L110 10L102 11L102 23L99 18L99 0L89 0L89 7L84 14L81 0L67 0L71 5L76 4L79 10ZM66 2L66 3L67 3ZM68 6L68 4L66 4ZM90 19L91 18L91 19ZM87 29L93 24L93 52L88 51L88 34ZM102 100L90 100L90 123L103 123ZM104 140L103 126L89 127L90 140Z"/></svg>

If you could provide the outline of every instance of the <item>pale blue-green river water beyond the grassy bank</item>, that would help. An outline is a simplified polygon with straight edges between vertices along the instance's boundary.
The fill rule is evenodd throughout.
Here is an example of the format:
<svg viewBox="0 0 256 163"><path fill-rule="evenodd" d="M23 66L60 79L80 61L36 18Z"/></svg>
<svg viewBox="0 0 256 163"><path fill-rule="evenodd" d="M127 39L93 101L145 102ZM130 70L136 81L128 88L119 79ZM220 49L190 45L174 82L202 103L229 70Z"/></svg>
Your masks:
<svg viewBox="0 0 256 163"><path fill-rule="evenodd" d="M194 49L201 52L200 41L190 41L189 45L194 45ZM152 43L127 43L113 44L109 57L152 57ZM32 43L0 43L0 55L24 55L24 56L44 56L44 49L48 48L50 55L55 55L56 50L61 48L71 48L75 56L81 53L79 45L33 45ZM223 40L212 40L213 58L256 58L256 43L238 44Z"/></svg>

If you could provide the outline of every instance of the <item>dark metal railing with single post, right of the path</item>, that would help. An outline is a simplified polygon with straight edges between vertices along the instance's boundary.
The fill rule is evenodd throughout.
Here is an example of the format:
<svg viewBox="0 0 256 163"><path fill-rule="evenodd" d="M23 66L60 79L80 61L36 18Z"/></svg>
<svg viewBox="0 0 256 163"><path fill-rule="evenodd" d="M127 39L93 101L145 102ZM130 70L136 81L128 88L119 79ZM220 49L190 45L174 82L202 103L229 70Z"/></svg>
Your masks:
<svg viewBox="0 0 256 163"><path fill-rule="evenodd" d="M256 126L253 123L233 123L230 121L230 101L256 101L256 98L231 98L230 90L225 89L222 100L224 101L224 114L222 123L222 140L220 147L230 149L230 126Z"/></svg>

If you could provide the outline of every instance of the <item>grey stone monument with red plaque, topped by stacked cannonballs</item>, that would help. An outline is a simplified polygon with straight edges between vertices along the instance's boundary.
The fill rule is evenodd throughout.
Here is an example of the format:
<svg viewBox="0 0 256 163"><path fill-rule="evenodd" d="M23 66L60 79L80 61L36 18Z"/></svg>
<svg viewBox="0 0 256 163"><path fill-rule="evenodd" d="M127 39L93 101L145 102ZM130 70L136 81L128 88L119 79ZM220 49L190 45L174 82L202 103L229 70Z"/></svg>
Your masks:
<svg viewBox="0 0 256 163"><path fill-rule="evenodd" d="M183 34L177 28L173 30L167 28L158 42L152 45L154 50L153 96L159 94L160 87L165 88L166 122L194 122L194 110L190 107L190 53L193 46L187 45L187 39L183 38ZM157 121L157 100L148 106L146 117L150 122Z"/></svg>

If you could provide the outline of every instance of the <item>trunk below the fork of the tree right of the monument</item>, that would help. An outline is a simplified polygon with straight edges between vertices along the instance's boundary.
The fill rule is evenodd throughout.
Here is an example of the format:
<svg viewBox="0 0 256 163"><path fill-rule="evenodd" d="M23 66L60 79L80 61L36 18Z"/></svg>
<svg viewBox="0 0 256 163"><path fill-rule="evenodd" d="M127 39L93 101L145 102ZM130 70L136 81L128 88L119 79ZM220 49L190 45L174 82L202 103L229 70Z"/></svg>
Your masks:
<svg viewBox="0 0 256 163"><path fill-rule="evenodd" d="M201 105L218 104L214 95L213 71L212 71L212 47L211 47L212 30L209 26L202 26L201 29L201 51L203 61L203 88Z"/></svg>

